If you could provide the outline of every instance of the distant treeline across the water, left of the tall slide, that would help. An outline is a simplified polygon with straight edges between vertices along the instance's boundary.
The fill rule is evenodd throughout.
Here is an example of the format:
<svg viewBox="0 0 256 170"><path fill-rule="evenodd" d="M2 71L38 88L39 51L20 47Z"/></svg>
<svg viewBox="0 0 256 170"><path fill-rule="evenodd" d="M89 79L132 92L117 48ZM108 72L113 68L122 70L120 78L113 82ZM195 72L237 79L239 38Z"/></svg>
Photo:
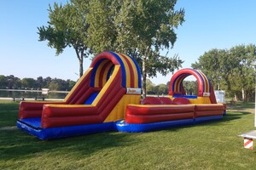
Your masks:
<svg viewBox="0 0 256 170"><path fill-rule="evenodd" d="M62 80L51 77L22 78L14 75L0 75L0 88L2 89L42 89L49 88L50 90L70 91L76 82L72 80Z"/></svg>

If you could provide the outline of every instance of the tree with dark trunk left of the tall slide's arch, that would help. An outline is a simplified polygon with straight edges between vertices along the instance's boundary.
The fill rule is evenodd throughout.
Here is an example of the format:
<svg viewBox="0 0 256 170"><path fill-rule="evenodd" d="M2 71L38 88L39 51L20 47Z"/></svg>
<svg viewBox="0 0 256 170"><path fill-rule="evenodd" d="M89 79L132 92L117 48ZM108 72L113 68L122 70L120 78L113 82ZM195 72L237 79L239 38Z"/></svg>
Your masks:
<svg viewBox="0 0 256 170"><path fill-rule="evenodd" d="M74 48L79 59L79 76L82 77L84 57L90 54L85 43L89 25L84 13L73 5L73 1L64 6L54 3L53 8L49 6L48 24L49 26L38 27L39 41L48 41L48 46L56 49L56 55L61 54L67 47Z"/></svg>

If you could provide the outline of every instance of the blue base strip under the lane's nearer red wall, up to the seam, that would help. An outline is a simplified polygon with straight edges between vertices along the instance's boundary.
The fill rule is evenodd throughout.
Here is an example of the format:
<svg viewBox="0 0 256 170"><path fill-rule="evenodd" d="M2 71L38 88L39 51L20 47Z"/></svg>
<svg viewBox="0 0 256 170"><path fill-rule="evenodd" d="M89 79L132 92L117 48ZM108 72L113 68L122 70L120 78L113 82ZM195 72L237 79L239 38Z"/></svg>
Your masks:
<svg viewBox="0 0 256 170"><path fill-rule="evenodd" d="M177 121L168 122L150 122L145 124L130 124L126 123L125 120L121 120L116 123L117 130L125 133L144 133L149 131L157 131L166 129L169 127L180 127L184 125L194 124L194 119L183 119Z"/></svg>

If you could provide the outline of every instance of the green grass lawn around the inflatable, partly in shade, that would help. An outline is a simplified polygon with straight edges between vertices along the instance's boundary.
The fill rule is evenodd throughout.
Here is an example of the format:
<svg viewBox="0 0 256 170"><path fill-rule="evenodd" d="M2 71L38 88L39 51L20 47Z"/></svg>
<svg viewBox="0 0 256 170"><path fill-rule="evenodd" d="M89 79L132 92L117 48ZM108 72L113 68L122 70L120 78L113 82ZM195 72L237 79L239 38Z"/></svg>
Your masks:
<svg viewBox="0 0 256 170"><path fill-rule="evenodd" d="M244 149L243 139L237 136L253 130L253 103L230 107L218 122L49 141L15 128L18 106L0 101L0 169L256 168L256 151Z"/></svg>

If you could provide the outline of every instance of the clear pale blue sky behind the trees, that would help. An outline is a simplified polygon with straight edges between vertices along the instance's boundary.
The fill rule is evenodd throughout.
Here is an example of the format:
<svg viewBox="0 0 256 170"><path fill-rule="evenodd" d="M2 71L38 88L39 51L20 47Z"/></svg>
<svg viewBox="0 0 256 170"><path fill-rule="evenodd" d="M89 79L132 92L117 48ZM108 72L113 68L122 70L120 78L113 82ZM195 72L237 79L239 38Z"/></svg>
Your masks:
<svg viewBox="0 0 256 170"><path fill-rule="evenodd" d="M56 56L47 42L38 41L38 27L48 26L49 4L55 2L67 0L1 0L0 75L77 81L79 60L73 48ZM184 61L183 68L188 68L212 48L255 44L255 7L255 0L177 0L176 9L185 9L185 22L177 28L177 41L168 55L177 54ZM84 71L90 62L84 59ZM171 77L172 73L158 74L150 80L157 85Z"/></svg>

